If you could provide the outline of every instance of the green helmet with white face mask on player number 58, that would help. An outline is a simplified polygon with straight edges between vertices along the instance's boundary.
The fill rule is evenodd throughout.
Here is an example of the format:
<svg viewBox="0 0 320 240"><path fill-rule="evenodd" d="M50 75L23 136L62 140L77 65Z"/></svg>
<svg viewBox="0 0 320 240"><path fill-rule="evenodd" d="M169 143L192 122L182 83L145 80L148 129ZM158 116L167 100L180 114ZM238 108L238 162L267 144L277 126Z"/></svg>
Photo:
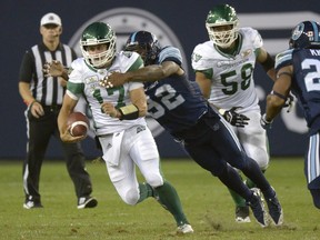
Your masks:
<svg viewBox="0 0 320 240"><path fill-rule="evenodd" d="M212 8L206 20L209 39L221 48L228 48L238 38L238 23L236 10L229 4L219 4ZM230 30L217 31L216 27L230 26Z"/></svg>

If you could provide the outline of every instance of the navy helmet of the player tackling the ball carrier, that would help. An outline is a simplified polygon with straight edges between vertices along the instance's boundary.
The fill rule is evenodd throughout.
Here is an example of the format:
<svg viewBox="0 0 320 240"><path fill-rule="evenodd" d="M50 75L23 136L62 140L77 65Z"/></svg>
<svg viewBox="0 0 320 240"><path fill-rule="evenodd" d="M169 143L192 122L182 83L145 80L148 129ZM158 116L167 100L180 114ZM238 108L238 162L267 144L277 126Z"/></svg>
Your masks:
<svg viewBox="0 0 320 240"><path fill-rule="evenodd" d="M138 52L144 64L153 64L161 47L154 34L148 31L137 31L130 34L124 50Z"/></svg>

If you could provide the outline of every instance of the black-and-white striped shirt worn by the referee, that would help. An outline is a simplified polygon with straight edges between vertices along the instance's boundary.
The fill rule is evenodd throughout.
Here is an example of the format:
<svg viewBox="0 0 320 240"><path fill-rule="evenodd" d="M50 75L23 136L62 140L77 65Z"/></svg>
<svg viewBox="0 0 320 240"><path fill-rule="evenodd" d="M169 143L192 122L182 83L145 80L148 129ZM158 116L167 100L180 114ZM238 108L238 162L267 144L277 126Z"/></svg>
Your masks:
<svg viewBox="0 0 320 240"><path fill-rule="evenodd" d="M42 106L61 106L66 88L57 78L43 76L43 64L58 60L64 67L70 67L76 58L74 50L67 44L59 43L54 51L50 51L43 43L36 44L22 59L19 79L30 83L33 98Z"/></svg>

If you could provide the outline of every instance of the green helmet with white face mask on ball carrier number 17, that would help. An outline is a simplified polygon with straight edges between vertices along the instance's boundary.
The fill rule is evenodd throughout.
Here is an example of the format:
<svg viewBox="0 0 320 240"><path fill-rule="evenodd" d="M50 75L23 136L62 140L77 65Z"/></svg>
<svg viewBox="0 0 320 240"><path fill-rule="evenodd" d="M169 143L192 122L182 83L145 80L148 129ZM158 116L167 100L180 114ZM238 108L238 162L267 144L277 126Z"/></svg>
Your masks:
<svg viewBox="0 0 320 240"><path fill-rule="evenodd" d="M112 28L104 22L93 22L88 26L81 36L80 48L86 62L93 68L101 68L111 63L116 56L116 33ZM89 53L88 46L107 44L107 51L100 53Z"/></svg>

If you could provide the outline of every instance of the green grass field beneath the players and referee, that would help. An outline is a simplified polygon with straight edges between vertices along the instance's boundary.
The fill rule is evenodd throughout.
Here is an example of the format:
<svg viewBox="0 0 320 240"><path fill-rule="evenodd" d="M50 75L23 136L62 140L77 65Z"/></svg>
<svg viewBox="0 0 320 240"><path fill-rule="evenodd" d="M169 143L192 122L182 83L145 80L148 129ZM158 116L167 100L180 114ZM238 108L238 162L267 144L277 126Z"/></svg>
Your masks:
<svg viewBox="0 0 320 240"><path fill-rule="evenodd" d="M191 160L162 160L166 178L177 188L194 233L177 236L174 221L153 199L131 207L110 183L104 163L88 161L93 182L94 209L78 210L71 180L63 162L43 163L40 190L43 209L22 208L22 167L0 161L0 239L320 239L320 211L312 206L301 159L272 159L267 177L278 191L284 224L262 229L236 223L228 190Z"/></svg>

